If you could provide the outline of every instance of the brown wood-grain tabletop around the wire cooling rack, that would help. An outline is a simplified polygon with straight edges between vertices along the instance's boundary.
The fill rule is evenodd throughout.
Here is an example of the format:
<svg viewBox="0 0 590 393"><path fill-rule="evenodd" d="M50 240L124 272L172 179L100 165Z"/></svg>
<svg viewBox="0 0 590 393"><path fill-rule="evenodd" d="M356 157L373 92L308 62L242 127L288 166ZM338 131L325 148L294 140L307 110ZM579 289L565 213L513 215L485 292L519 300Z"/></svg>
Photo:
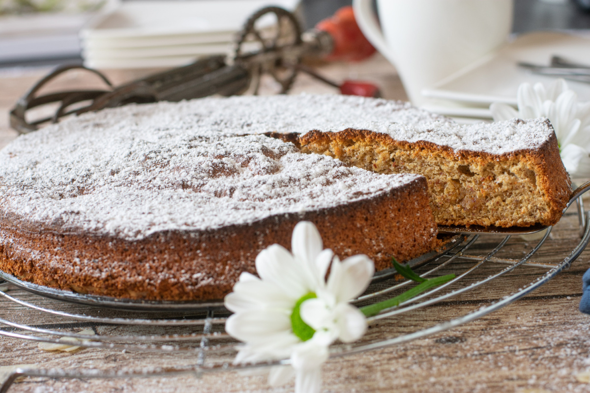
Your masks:
<svg viewBox="0 0 590 393"><path fill-rule="evenodd" d="M385 98L404 99L395 70L383 58L360 64L323 65L335 80L356 78L379 84ZM7 113L17 98L48 70L0 71L0 145L17 134ZM109 71L120 83L138 71ZM83 87L90 81L74 72L53 88ZM301 77L293 92L335 93L335 89ZM554 230L546 258L559 260L578 239L575 213L566 214ZM519 242L517 238L514 240ZM545 286L500 311L451 331L398 346L336 358L324 365L324 392L590 392L590 316L578 311L581 277L590 267L590 250ZM491 299L493 300L493 299ZM477 298L472 303L486 304ZM454 305L453 307L467 307ZM1 303L0 318L16 308ZM469 307L473 308L473 304ZM450 306L451 307L451 306ZM476 307L477 308L477 307ZM4 326L0 325L0 328ZM34 342L0 338L0 366L35 364L42 368L127 368L168 362L154 355L83 349L44 352ZM166 364L164 364L166 365ZM0 368L0 374L2 368ZM169 378L44 379L25 378L10 392L289 392L293 385L268 388L266 379L234 372Z"/></svg>

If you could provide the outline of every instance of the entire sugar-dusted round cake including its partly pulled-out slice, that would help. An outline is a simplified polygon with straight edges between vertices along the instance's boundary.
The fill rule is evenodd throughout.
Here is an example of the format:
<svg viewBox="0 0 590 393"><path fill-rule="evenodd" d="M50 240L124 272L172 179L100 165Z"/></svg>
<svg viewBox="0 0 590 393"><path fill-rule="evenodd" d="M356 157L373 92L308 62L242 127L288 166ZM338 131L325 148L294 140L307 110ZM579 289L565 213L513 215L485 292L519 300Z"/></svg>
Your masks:
<svg viewBox="0 0 590 393"><path fill-rule="evenodd" d="M241 272L254 272L261 249L290 248L300 220L316 223L340 257L365 253L377 269L436 245L430 204L441 223L477 209L557 220L569 183L551 127L472 131L409 104L314 95L129 105L71 118L0 152L0 269L81 293L219 299ZM323 154L304 154L301 144ZM403 162L428 177L430 203L424 177L383 174ZM427 162L438 167L418 168ZM518 199L523 190L542 197ZM496 210L478 200L502 192L511 199ZM442 212L442 203L453 208ZM511 213L497 212L508 204ZM510 224L493 214L473 223Z"/></svg>

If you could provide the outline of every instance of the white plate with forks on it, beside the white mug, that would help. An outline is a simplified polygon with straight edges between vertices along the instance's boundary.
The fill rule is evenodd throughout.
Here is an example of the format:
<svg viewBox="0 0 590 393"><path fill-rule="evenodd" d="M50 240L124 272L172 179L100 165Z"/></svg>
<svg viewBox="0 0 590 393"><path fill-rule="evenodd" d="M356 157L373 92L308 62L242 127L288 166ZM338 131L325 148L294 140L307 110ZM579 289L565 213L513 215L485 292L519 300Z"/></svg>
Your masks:
<svg viewBox="0 0 590 393"><path fill-rule="evenodd" d="M518 62L549 65L552 55L590 66L590 39L562 32L532 32L520 35L469 67L422 92L426 97L470 105L489 106L493 102L516 105L516 91L523 82L548 85L555 78L535 75L517 66ZM581 101L590 101L590 84L567 81Z"/></svg>

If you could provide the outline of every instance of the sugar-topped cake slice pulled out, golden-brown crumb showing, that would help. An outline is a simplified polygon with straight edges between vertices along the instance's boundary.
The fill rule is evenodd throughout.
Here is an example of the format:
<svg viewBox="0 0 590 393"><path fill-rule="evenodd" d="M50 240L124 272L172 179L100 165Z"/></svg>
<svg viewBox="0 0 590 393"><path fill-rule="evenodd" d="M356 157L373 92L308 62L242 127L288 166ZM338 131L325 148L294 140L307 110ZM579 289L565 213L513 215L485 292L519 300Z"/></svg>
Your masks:
<svg viewBox="0 0 590 393"><path fill-rule="evenodd" d="M557 223L571 195L555 132L546 119L493 124L375 122L316 130L302 151L376 173L428 180L437 224L526 227Z"/></svg>

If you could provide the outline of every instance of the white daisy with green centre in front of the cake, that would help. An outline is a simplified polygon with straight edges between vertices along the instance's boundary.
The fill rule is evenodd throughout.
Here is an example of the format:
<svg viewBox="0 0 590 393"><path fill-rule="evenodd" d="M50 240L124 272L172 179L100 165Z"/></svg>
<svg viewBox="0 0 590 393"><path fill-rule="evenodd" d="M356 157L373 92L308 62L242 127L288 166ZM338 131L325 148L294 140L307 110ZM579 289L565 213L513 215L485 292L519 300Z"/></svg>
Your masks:
<svg viewBox="0 0 590 393"><path fill-rule="evenodd" d="M290 365L271 368L269 383L283 385L295 376L297 393L314 393L322 385L328 346L336 339L355 341L366 331L365 316L349 300L366 289L375 266L365 255L340 262L332 250L323 250L310 222L295 226L291 251L269 246L256 258L260 278L241 274L225 297L234 312L225 330L244 342L236 364L290 359Z"/></svg>

